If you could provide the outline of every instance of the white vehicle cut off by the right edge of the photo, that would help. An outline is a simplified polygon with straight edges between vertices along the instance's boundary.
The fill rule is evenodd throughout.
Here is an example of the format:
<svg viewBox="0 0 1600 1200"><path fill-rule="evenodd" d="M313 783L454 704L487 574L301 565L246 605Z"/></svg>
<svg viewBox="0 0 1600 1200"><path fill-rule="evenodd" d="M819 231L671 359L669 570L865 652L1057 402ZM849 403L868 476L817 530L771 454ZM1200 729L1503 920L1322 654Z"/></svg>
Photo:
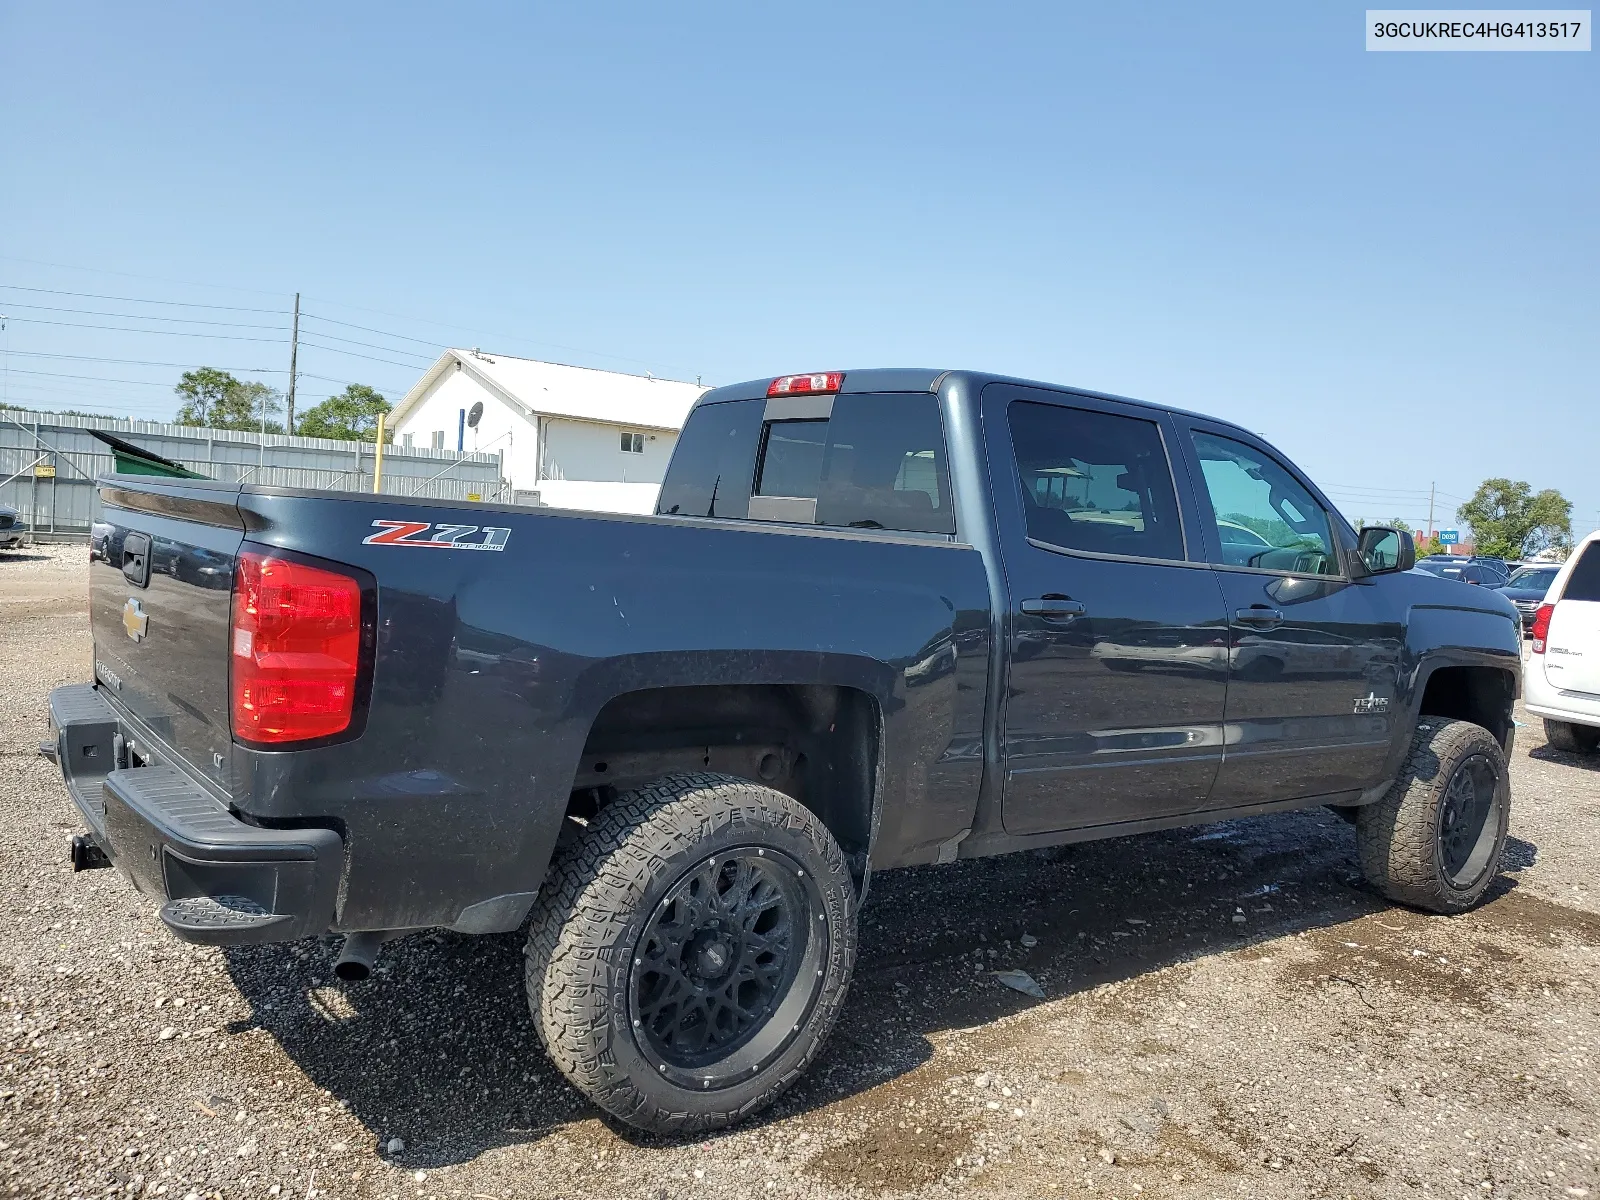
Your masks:
<svg viewBox="0 0 1600 1200"><path fill-rule="evenodd" d="M1528 712L1557 750L1600 749L1600 530L1562 566L1533 616Z"/></svg>

